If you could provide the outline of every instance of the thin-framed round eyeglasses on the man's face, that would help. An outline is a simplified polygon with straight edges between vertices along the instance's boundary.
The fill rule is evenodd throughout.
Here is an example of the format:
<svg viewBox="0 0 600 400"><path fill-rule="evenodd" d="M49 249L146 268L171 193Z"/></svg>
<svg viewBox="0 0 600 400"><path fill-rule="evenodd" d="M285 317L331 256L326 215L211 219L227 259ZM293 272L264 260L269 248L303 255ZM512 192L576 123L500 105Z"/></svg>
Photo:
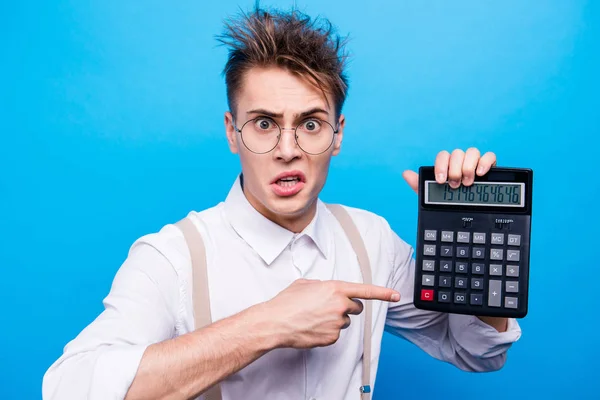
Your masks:
<svg viewBox="0 0 600 400"><path fill-rule="evenodd" d="M339 132L329 122L318 118L310 118L293 129L285 129L271 118L257 117L246 121L240 129L234 123L233 128L242 137L244 146L256 154L265 154L277 147L284 130L294 131L296 144L305 153L322 154L331 147Z"/></svg>

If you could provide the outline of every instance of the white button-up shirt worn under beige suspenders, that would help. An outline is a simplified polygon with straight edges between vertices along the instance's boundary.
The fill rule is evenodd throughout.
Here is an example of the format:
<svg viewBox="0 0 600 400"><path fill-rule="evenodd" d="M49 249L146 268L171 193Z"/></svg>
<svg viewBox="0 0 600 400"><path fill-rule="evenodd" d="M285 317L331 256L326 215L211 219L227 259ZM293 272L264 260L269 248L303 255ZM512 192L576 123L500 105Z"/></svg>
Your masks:
<svg viewBox="0 0 600 400"><path fill-rule="evenodd" d="M518 323L510 319L507 332L499 333L473 316L416 309L412 248L382 217L346 209L365 241L373 283L401 295L397 303L373 301L373 379L384 329L458 368L501 368L521 335ZM344 231L321 201L309 226L294 234L258 213L238 178L224 202L189 216L206 244L213 320L269 300L299 278L362 281ZM169 224L139 238L116 274L105 310L45 374L43 398L123 399L147 346L194 330L191 290L180 230ZM221 383L223 399L358 399L363 314L351 319L331 346L267 353Z"/></svg>

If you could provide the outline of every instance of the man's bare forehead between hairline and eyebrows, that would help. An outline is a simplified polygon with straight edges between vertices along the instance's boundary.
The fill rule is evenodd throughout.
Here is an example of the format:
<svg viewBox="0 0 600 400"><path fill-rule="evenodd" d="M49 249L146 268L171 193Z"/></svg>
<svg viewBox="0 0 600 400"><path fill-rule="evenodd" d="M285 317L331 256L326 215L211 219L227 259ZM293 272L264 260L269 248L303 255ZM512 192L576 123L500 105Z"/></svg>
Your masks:
<svg viewBox="0 0 600 400"><path fill-rule="evenodd" d="M282 68L252 68L244 74L237 96L238 111L266 109L293 116L307 109L331 112L323 92L306 79Z"/></svg>

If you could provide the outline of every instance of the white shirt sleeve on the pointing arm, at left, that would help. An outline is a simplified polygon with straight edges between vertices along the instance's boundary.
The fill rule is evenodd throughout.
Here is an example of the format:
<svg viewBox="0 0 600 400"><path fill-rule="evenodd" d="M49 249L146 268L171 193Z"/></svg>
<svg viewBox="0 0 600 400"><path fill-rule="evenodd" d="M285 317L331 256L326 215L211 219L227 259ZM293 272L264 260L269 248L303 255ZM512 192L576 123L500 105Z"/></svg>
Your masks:
<svg viewBox="0 0 600 400"><path fill-rule="evenodd" d="M174 335L178 278L156 248L138 243L118 270L104 311L44 375L44 400L123 399L146 348Z"/></svg>

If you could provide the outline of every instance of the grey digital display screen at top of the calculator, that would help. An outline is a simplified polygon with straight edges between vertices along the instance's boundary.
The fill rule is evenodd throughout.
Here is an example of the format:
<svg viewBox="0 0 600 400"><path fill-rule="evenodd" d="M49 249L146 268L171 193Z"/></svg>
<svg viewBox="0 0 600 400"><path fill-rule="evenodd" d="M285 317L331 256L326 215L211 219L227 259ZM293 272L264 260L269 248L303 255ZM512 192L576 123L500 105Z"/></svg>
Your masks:
<svg viewBox="0 0 600 400"><path fill-rule="evenodd" d="M525 184L519 182L475 182L452 189L447 183L425 181L426 204L523 207Z"/></svg>

